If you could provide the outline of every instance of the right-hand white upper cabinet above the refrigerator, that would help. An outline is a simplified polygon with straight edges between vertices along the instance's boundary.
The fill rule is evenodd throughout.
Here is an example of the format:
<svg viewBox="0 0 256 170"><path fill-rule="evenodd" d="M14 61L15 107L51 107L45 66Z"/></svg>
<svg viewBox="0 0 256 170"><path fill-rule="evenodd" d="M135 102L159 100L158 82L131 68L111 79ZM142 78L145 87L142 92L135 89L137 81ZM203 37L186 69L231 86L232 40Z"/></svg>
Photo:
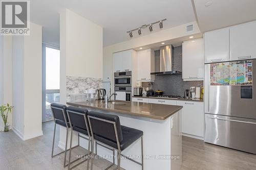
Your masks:
<svg viewBox="0 0 256 170"><path fill-rule="evenodd" d="M256 58L256 22L230 28L230 60Z"/></svg>

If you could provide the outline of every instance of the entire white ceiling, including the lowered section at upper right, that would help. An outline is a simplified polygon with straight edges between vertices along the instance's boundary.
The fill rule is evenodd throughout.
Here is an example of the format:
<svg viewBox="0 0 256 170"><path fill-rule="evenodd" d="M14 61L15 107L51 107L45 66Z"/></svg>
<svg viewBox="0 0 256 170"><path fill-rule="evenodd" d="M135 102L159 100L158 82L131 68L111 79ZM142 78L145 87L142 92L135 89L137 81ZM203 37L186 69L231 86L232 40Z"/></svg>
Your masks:
<svg viewBox="0 0 256 170"><path fill-rule="evenodd" d="M212 5L206 7L209 1ZM164 18L163 29L197 20L202 33L256 20L256 0L32 0L30 5L31 21L43 27L43 41L55 45L59 45L59 12L65 8L101 26L103 46L130 40L126 31ZM153 32L157 31L156 24ZM148 28L140 36L146 34ZM133 38L138 36L135 31Z"/></svg>

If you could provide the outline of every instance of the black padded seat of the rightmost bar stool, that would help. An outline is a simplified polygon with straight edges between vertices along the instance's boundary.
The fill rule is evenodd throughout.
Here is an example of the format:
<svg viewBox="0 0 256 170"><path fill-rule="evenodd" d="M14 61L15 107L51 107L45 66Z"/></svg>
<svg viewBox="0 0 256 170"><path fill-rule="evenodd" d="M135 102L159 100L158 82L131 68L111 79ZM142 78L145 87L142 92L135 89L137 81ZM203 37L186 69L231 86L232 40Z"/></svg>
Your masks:
<svg viewBox="0 0 256 170"><path fill-rule="evenodd" d="M129 147L133 142L135 142L137 139L139 139L141 136L143 136L143 131L140 131L138 129L133 129L133 128L129 128L126 126L121 126L121 129L122 129L122 135L123 135L123 140L120 142L121 151L123 151L124 149ZM116 141L106 139L106 138L98 136L98 135L94 135L94 139L96 139L102 143L105 143L105 144L109 145L110 147L118 149Z"/></svg>

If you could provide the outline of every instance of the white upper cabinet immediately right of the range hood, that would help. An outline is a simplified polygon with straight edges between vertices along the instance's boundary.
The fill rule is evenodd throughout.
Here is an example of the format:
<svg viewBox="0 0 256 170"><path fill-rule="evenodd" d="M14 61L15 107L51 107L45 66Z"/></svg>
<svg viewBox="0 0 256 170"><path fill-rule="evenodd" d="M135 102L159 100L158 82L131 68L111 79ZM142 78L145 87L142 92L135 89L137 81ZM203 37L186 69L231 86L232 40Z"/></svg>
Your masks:
<svg viewBox="0 0 256 170"><path fill-rule="evenodd" d="M182 43L182 78L184 81L203 80L203 38Z"/></svg>

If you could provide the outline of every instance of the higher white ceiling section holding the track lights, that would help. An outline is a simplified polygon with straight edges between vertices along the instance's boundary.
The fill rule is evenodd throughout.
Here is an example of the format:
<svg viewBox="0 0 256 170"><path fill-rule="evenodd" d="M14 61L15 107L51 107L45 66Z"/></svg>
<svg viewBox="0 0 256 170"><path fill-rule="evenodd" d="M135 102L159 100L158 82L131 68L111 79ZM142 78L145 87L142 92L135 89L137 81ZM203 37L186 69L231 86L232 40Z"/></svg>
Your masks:
<svg viewBox="0 0 256 170"><path fill-rule="evenodd" d="M131 39L126 31L167 18L163 29L195 21L190 0L33 0L31 21L42 25L43 41L59 45L59 12L68 8L103 28L103 46ZM159 31L154 25L153 32ZM150 34L148 29L142 35ZM133 38L138 37L137 32Z"/></svg>

